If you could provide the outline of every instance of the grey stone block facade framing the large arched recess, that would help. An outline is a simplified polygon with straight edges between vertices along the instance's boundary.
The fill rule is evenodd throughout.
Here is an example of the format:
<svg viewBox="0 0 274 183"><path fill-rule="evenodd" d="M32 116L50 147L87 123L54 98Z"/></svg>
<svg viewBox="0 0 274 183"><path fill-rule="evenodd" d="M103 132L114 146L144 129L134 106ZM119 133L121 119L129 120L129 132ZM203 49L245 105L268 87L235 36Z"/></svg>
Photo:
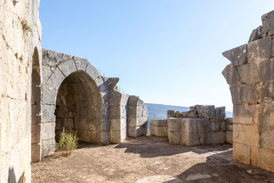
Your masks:
<svg viewBox="0 0 274 183"><path fill-rule="evenodd" d="M79 84L81 82L82 84ZM85 82L86 84L84 84ZM72 86L73 84L81 87L77 88ZM88 96L88 90L91 92L93 90L94 94L97 93L96 96L98 95L100 100L97 101L99 103L97 108L100 110L100 117L97 115L97 119L99 119L97 125L99 126L96 128L96 140L90 136L90 142L107 143L108 141L110 124L108 119L108 85L105 84L105 78L84 58L42 49L42 157L52 154L55 150L55 114L58 114L55 113L55 106L60 104L58 90L62 93L66 86L73 90L74 97L75 95ZM74 99L74 102L79 103L80 100ZM92 129L92 125L88 129Z"/></svg>

